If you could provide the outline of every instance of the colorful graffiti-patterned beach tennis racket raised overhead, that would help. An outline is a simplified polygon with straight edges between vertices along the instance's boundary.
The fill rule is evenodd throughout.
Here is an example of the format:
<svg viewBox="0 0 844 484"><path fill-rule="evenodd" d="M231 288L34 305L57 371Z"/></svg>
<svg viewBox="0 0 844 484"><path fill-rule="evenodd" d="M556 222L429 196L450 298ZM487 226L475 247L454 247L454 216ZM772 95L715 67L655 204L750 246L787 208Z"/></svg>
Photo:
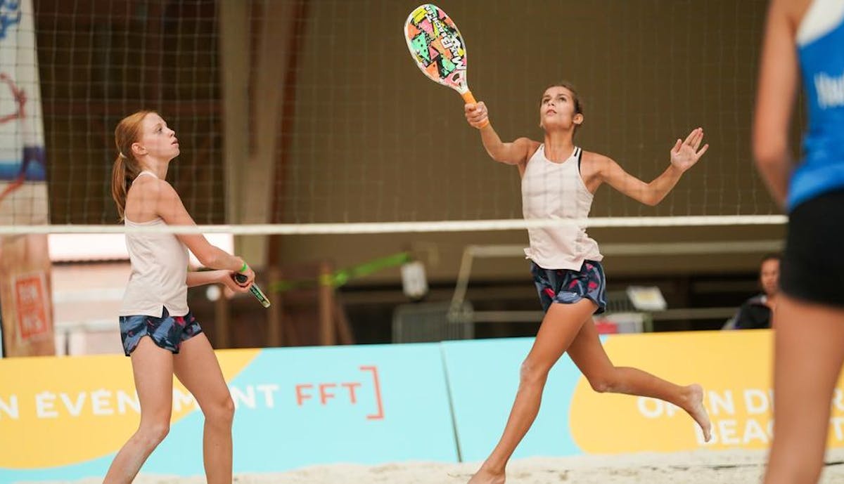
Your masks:
<svg viewBox="0 0 844 484"><path fill-rule="evenodd" d="M404 38L410 55L428 78L456 90L467 104L477 102L466 79L466 44L441 8L431 3L414 8L404 23Z"/></svg>

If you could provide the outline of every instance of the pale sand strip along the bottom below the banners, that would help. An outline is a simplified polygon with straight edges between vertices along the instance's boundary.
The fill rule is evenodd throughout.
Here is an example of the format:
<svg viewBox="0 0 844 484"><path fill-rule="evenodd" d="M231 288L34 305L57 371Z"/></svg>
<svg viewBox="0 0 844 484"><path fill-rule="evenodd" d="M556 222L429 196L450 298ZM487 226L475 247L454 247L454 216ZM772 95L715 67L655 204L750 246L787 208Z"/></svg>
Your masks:
<svg viewBox="0 0 844 484"><path fill-rule="evenodd" d="M762 451L695 451L677 454L590 455L516 460L507 470L509 484L735 484L759 482ZM830 451L821 482L844 481L844 450ZM458 484L468 481L478 464L396 463L333 464L278 474L241 474L238 484ZM137 484L203 484L202 477L139 476ZM95 484L83 480L75 484Z"/></svg>

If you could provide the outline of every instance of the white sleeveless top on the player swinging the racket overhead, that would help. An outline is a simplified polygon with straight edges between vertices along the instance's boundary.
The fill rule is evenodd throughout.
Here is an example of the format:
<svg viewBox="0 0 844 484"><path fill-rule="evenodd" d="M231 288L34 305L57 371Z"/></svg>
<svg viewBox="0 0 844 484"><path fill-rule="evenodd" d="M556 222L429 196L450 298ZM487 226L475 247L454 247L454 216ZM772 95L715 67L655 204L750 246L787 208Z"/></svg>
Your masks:
<svg viewBox="0 0 844 484"><path fill-rule="evenodd" d="M527 160L522 175L522 213L532 219L586 219L592 207L592 193L580 175L582 149L575 148L562 163L545 158L545 145ZM527 229L530 247L527 258L544 269L579 271L583 261L601 261L598 243L582 225L561 225Z"/></svg>

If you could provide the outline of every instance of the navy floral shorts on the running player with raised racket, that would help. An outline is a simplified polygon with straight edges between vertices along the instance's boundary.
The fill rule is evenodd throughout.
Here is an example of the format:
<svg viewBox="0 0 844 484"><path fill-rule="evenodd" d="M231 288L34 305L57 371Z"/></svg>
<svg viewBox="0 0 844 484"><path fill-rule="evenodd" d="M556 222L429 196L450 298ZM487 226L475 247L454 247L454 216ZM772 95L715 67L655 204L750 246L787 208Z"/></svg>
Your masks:
<svg viewBox="0 0 844 484"><path fill-rule="evenodd" d="M607 279L600 262L584 261L580 271L573 271L544 269L532 261L530 273L544 311L552 303L575 304L583 298L598 304L596 315L607 310Z"/></svg>

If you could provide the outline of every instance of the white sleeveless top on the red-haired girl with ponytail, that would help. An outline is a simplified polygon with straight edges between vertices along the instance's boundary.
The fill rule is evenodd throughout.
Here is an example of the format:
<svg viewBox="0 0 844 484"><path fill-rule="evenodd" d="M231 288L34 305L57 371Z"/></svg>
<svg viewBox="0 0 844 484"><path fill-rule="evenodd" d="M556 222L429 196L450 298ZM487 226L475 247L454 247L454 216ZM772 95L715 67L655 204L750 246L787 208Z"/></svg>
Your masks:
<svg viewBox="0 0 844 484"><path fill-rule="evenodd" d="M142 171L135 180L142 175L155 176ZM124 218L124 222L127 227L166 225L161 218L149 222ZM175 234L127 233L126 248L132 273L123 293L119 315L160 318L162 308L167 308L171 316L187 315L187 247Z"/></svg>

